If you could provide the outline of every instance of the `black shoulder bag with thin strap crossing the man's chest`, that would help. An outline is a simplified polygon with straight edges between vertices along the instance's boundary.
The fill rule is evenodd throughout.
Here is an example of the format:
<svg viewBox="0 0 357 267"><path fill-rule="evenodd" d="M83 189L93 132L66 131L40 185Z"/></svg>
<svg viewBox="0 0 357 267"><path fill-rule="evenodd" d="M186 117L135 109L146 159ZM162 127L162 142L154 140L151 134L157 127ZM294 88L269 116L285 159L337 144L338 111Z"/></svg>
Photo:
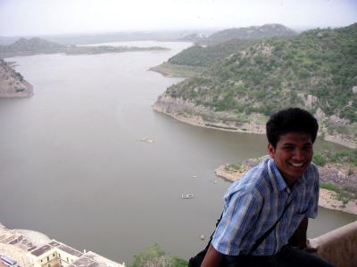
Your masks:
<svg viewBox="0 0 357 267"><path fill-rule="evenodd" d="M254 243L253 247L251 248L251 250L249 251L248 255L237 255L237 256L223 255L223 259L220 262L220 266L221 267L234 267L234 266L237 266L237 263L240 263L241 261L243 261L244 259L249 257L253 253L253 251L255 249L257 249L259 247L259 245L262 244L262 241L270 235L270 232L274 230L275 226L278 224L278 222L280 221L283 214L285 214L286 209L288 206L290 206L291 202L293 202L293 199L291 199L290 202L285 206L284 211L282 212L282 214L280 214L280 217L278 218L277 222L275 222L270 227L270 229L262 235L262 237L260 237L259 239L257 239L255 241L255 243ZM217 228L218 224L220 223L220 220L222 219L222 215L223 215L223 213L220 214L220 219L218 219L218 221L216 223L216 228ZM213 235L214 235L214 231L212 232L210 241L208 241L207 246L202 251L200 251L197 255L195 255L194 257L189 259L188 267L200 267L201 266L204 256L207 254L208 248L211 245Z"/></svg>

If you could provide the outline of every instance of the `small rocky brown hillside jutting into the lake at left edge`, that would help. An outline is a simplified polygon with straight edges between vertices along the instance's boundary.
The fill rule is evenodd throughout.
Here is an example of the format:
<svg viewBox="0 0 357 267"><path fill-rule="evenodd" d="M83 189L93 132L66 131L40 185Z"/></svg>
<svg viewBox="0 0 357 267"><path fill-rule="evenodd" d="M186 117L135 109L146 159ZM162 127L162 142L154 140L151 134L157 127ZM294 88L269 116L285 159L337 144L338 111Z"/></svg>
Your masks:
<svg viewBox="0 0 357 267"><path fill-rule="evenodd" d="M0 60L0 97L29 97L33 95L33 86L19 72Z"/></svg>

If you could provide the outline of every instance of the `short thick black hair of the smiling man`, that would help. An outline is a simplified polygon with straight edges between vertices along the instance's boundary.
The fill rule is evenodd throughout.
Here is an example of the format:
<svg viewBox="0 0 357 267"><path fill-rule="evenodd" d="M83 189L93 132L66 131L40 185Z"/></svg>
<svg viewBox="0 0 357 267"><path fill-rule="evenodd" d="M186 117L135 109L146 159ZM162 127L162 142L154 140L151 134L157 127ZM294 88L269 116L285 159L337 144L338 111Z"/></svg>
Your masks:
<svg viewBox="0 0 357 267"><path fill-rule="evenodd" d="M308 111L299 108L282 109L270 116L267 122L268 142L276 148L281 135L288 133L310 134L315 142L319 124Z"/></svg>

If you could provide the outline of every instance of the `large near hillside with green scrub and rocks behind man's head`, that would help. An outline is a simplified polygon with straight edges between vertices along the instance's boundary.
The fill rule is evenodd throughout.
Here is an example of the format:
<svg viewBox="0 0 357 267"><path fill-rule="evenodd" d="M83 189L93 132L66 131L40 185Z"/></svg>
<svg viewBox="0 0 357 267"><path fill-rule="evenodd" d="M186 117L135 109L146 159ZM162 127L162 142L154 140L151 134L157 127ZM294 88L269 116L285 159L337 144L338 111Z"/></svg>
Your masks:
<svg viewBox="0 0 357 267"><path fill-rule="evenodd" d="M166 95L240 116L303 107L320 118L329 134L355 141L357 23L248 45L203 75L170 86Z"/></svg>

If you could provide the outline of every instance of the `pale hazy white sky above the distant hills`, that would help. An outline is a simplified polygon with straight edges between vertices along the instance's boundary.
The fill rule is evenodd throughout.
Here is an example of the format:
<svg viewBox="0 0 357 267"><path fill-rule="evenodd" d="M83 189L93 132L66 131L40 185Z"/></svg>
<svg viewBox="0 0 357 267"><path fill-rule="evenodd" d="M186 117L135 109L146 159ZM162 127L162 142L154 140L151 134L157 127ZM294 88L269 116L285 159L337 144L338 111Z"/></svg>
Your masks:
<svg viewBox="0 0 357 267"><path fill-rule="evenodd" d="M357 0L0 0L0 36L356 21Z"/></svg>

